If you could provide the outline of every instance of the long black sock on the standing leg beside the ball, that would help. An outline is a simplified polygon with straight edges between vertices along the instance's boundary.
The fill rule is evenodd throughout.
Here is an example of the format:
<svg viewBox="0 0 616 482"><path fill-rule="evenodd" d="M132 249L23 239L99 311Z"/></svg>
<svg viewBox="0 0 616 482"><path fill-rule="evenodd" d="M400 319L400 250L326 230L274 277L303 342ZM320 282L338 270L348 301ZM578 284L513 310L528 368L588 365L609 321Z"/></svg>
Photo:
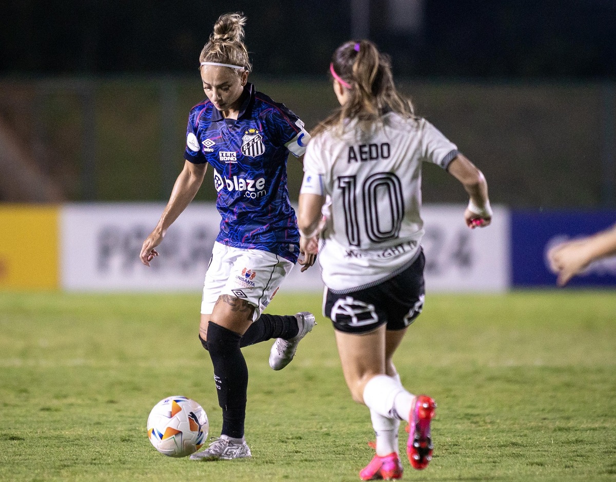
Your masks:
<svg viewBox="0 0 616 482"><path fill-rule="evenodd" d="M209 322L208 351L214 366L218 404L222 408L221 435L244 436L248 367L240 350L241 335Z"/></svg>

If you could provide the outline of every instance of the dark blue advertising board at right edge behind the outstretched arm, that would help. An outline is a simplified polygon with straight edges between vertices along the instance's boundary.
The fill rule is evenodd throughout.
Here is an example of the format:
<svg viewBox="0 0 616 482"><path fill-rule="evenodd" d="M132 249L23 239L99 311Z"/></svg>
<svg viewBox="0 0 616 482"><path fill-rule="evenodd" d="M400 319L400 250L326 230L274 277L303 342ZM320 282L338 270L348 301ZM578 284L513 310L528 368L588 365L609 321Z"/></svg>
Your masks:
<svg viewBox="0 0 616 482"><path fill-rule="evenodd" d="M595 234L616 224L616 211L511 211L514 287L556 286L547 252L560 242ZM591 264L568 286L616 286L616 258Z"/></svg>

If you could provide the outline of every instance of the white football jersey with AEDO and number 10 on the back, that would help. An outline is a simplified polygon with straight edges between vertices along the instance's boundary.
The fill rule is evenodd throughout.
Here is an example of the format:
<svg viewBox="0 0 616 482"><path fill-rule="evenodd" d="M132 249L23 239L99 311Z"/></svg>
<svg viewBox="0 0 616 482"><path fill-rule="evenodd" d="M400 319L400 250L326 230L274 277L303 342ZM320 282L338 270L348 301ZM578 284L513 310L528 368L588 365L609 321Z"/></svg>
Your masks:
<svg viewBox="0 0 616 482"><path fill-rule="evenodd" d="M325 285L351 292L407 269L423 235L421 164L442 168L455 144L423 118L390 112L370 133L351 121L344 134L328 129L304 156L302 193L325 195L319 261Z"/></svg>

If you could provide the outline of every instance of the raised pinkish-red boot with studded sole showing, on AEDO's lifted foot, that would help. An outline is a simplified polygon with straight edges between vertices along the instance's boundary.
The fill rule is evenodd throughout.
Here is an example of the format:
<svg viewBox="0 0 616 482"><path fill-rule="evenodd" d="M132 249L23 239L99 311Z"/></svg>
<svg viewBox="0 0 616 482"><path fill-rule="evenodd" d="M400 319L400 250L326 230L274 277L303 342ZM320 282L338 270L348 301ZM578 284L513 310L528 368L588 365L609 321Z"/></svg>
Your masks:
<svg viewBox="0 0 616 482"><path fill-rule="evenodd" d="M434 417L436 402L428 395L419 395L411 409L407 455L413 468L423 470L432 460L432 438L430 422Z"/></svg>

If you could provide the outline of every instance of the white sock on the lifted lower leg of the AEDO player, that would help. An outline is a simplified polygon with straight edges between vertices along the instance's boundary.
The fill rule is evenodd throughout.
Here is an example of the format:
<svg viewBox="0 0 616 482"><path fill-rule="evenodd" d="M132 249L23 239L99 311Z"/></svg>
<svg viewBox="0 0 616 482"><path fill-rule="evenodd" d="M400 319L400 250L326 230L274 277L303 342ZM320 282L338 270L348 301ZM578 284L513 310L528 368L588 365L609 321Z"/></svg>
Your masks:
<svg viewBox="0 0 616 482"><path fill-rule="evenodd" d="M363 402L368 408L389 419L408 422L414 399L394 377L387 375L376 375L363 389Z"/></svg>

